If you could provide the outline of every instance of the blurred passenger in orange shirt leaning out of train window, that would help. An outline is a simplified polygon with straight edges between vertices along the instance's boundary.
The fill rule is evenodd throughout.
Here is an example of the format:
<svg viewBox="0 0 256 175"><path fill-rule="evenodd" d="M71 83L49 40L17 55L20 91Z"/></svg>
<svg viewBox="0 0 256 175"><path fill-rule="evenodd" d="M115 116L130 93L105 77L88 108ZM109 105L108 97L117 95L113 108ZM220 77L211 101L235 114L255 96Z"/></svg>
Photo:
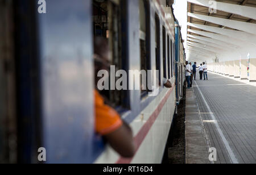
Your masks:
<svg viewBox="0 0 256 175"><path fill-rule="evenodd" d="M96 77L95 96L95 128L96 132L103 136L112 148L122 157L133 157L135 154L135 145L133 141L133 132L128 124L122 121L121 117L112 107L105 104L104 97L97 90L98 71L108 70L109 45L105 38L94 39L94 66Z"/></svg>

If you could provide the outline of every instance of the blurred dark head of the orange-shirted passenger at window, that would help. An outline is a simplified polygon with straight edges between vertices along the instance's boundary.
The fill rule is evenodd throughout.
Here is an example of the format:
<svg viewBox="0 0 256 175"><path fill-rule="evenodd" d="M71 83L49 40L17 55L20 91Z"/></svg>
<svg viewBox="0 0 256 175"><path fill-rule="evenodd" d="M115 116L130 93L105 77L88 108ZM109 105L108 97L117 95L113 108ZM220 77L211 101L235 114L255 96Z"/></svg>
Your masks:
<svg viewBox="0 0 256 175"><path fill-rule="evenodd" d="M110 50L108 40L102 37L94 38L94 73L96 78L96 84L98 80L97 74L100 70L110 69Z"/></svg>

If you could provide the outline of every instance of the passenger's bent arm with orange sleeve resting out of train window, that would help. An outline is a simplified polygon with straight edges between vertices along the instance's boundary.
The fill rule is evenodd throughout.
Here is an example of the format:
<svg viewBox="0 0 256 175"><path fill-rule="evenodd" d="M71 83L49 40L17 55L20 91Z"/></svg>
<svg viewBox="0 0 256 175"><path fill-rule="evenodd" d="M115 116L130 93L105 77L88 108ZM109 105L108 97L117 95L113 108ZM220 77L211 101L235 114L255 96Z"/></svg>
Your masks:
<svg viewBox="0 0 256 175"><path fill-rule="evenodd" d="M121 120L117 111L105 105L104 99L95 91L95 131L103 136L110 146L123 157L133 157L135 153L133 132Z"/></svg>

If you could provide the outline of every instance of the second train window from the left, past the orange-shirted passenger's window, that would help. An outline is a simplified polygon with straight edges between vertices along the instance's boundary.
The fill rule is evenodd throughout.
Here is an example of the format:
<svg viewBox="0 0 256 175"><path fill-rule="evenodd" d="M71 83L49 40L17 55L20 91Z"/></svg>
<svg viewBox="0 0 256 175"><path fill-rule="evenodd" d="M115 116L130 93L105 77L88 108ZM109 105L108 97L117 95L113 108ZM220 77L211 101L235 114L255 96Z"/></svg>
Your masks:
<svg viewBox="0 0 256 175"><path fill-rule="evenodd" d="M147 70L150 69L150 27L149 27L149 18L148 15L149 5L147 0L139 0L139 41L140 41L140 50L141 50L141 70L145 70L143 82L141 76L141 93L142 97L147 94Z"/></svg>

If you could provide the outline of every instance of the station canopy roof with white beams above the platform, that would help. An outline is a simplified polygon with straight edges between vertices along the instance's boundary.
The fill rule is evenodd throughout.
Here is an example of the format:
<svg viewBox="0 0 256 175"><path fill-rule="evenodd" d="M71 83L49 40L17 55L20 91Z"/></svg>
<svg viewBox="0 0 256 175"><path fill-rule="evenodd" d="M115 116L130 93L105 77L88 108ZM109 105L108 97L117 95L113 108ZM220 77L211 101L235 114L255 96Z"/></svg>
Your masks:
<svg viewBox="0 0 256 175"><path fill-rule="evenodd" d="M208 54L203 54L205 49L201 51L200 44L208 44L205 41L198 41L202 38L214 38L209 35L220 34L222 31L226 34L230 31L234 31L234 34L238 36L247 36L250 39L250 35L253 37L251 42L255 44L256 39L256 0L216 0L217 10L210 12L210 7L214 1L209 0L187 0L188 1L188 51L192 52L192 55L197 55L200 50L200 54L208 57ZM253 7L253 8L252 8ZM254 9L255 8L255 9ZM223 20L222 20L223 19ZM222 21L222 22L220 22ZM226 22L226 23L225 23ZM242 22L242 23L241 23ZM204 33L204 32L207 32ZM206 34L206 35L205 35ZM241 34L241 35L240 35ZM229 35L230 36L230 35ZM232 36L230 36L232 37ZM241 38L241 37L240 37ZM205 38L203 38L205 39ZM217 39L217 38L214 38ZM236 37L233 37L236 40ZM218 40L218 39L217 39ZM223 40L222 40L223 41ZM230 45L236 42L227 41ZM213 47L213 53L222 53L225 48L220 47L218 43L211 43ZM196 48L195 48L196 47ZM199 47L199 48L198 48ZM205 47L205 46L203 46ZM195 51L197 49L197 51ZM216 57L216 54L211 54Z"/></svg>

